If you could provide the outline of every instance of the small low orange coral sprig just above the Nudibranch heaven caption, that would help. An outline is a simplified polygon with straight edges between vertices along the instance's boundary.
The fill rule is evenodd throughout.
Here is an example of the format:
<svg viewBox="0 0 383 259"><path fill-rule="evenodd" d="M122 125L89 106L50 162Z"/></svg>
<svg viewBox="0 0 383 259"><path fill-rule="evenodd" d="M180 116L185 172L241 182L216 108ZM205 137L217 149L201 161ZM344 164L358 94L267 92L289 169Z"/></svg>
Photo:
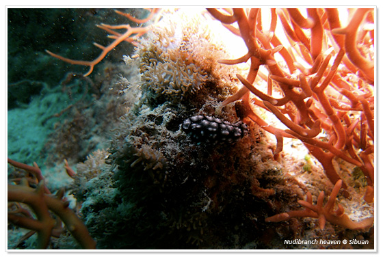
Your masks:
<svg viewBox="0 0 383 259"><path fill-rule="evenodd" d="M348 228L350 230L364 230L371 227L373 225L373 217L363 219L362 221L358 222L352 221L347 215L345 215L345 210L341 204L338 204L338 209L334 211L336 195L338 195L341 186L342 180L336 182L325 206L323 206L323 191L321 191L319 194L316 205L313 204L313 197L311 196L311 193L308 192L306 194L306 201L298 201L300 205L305 207L304 210L291 210L287 213L280 213L272 217L267 217L265 221L279 222L289 220L292 217L315 217L318 219L319 228L321 230L324 229L326 221L335 225L342 226L343 228Z"/></svg>

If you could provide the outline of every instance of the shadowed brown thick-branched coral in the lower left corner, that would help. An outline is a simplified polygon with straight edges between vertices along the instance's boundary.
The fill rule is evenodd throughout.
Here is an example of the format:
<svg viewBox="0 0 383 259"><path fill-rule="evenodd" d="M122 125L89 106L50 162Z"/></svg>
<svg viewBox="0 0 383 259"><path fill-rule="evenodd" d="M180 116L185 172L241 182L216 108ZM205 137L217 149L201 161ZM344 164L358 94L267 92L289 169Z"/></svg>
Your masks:
<svg viewBox="0 0 383 259"><path fill-rule="evenodd" d="M64 190L57 192L55 196L44 185L44 179L38 166L34 167L18 163L12 159L8 159L8 163L24 169L33 174L38 179L36 188L29 187L27 178L21 179L20 185L8 185L8 202L23 203L29 205L37 219L31 216L31 213L25 213L20 210L8 210L8 220L17 226L27 228L38 233L38 249L45 249L49 245L51 236L60 236L62 230L61 224L57 226L57 221L51 216L51 212L55 213L66 225L66 228L76 238L83 249L95 249L96 242L90 236L87 228L77 217L77 215L68 207L69 202L64 200ZM20 206L16 206L20 208Z"/></svg>

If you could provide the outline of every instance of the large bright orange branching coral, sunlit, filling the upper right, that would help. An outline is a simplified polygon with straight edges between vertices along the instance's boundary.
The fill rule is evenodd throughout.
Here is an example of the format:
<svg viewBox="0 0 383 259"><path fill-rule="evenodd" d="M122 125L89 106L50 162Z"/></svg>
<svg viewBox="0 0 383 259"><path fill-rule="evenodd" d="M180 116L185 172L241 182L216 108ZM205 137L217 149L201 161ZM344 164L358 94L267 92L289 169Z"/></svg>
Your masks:
<svg viewBox="0 0 383 259"><path fill-rule="evenodd" d="M274 154L282 151L284 137L300 139L334 185L341 179L334 157L360 167L368 183L365 200L373 202L374 45L373 31L362 26L373 23L373 10L349 10L351 19L342 29L336 9L309 8L304 18L300 10L272 8L269 30L263 27L261 9L208 10L248 49L243 57L219 62L250 60L247 77L237 74L243 87L223 105L242 99L248 118L276 136ZM289 43L282 43L275 33L278 17ZM263 77L267 93L253 85L263 76L262 66L269 73ZM288 129L269 125L252 103L274 113ZM342 187L347 195L345 180Z"/></svg>

